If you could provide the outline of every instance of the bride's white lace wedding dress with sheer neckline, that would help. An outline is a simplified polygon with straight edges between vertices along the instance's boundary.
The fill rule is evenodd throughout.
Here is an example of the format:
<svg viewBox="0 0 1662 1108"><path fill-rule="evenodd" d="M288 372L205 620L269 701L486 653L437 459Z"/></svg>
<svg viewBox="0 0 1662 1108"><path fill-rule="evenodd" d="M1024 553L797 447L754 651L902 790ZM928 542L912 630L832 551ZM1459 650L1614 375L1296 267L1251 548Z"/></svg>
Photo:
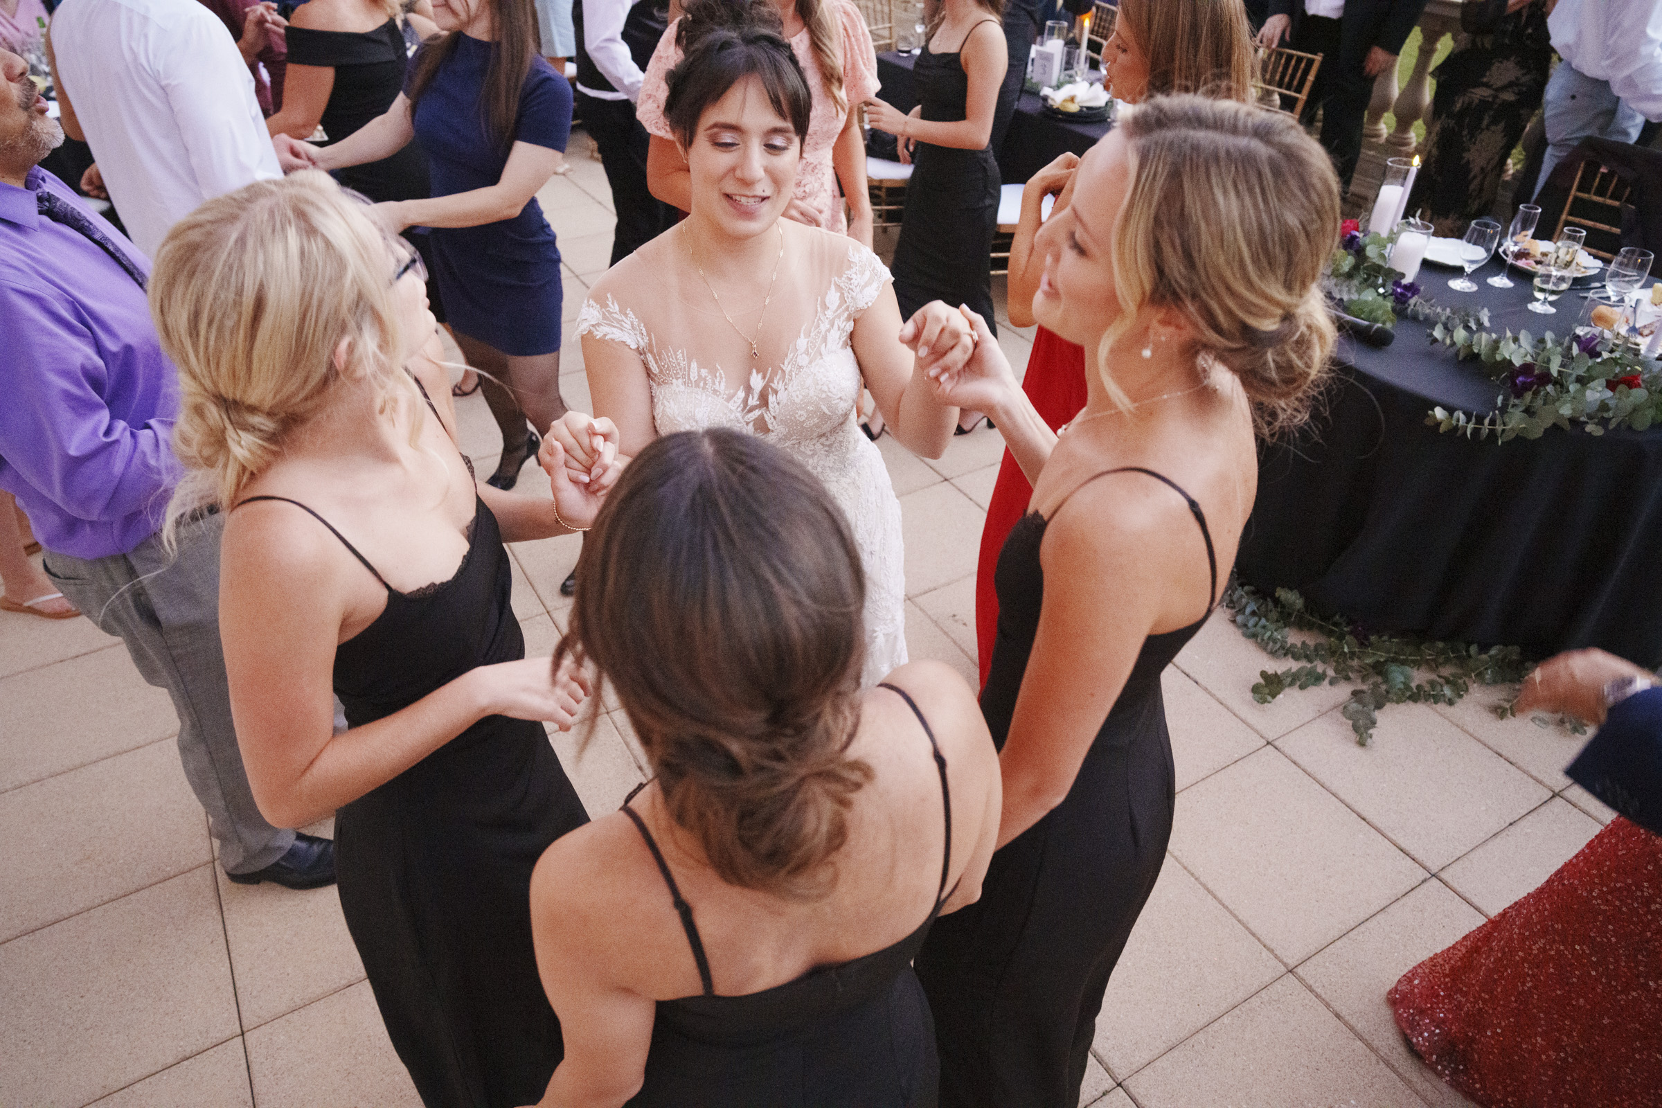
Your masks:
<svg viewBox="0 0 1662 1108"><path fill-rule="evenodd" d="M806 266L804 279L821 282L818 306L774 367L750 370L748 380L736 389L720 364L706 364L698 349L685 349L683 342L688 336L696 341L705 321L686 316L686 306L663 287L661 271L650 291L640 281L602 279L595 294L583 301L577 334L622 342L640 355L660 435L706 427L750 430L793 453L824 482L848 517L866 570L861 684L871 686L906 661L906 573L901 502L883 453L854 417L861 374L849 337L854 319L878 299L889 271L853 239L824 231L814 234L823 239L813 241L816 257ZM608 277L648 276L648 251L625 259ZM633 266L638 272L620 272L632 262L642 262ZM640 287L642 296L625 294L625 302L618 302L607 284ZM721 317L716 324L728 326Z"/></svg>

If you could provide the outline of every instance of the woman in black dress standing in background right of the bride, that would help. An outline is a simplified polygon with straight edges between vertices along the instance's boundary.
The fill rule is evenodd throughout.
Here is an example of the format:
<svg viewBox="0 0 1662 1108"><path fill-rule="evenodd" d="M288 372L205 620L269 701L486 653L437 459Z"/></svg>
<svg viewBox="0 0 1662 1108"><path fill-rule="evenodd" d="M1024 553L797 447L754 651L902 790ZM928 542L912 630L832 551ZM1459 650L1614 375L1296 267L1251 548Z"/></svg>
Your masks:
<svg viewBox="0 0 1662 1108"><path fill-rule="evenodd" d="M891 266L906 319L929 301L946 301L967 304L997 327L992 233L1001 179L991 136L1009 66L1001 7L941 0L912 68L917 106L901 115L881 100L866 101L871 126L899 136L901 159L914 163Z"/></svg>

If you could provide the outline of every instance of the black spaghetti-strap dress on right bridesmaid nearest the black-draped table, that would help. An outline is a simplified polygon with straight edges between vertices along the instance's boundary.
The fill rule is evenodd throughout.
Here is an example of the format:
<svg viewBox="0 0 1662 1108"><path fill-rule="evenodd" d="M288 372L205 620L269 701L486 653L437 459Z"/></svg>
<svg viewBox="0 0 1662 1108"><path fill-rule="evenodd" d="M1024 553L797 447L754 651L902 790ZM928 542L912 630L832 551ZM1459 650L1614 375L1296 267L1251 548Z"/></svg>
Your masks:
<svg viewBox="0 0 1662 1108"><path fill-rule="evenodd" d="M1188 502L1217 595L1217 558L1200 505L1160 473L1128 468L1165 482ZM994 578L999 630L981 711L1001 751L1039 630L1039 545L1047 523L1032 512L1010 528ZM1160 671L1203 623L1205 616L1143 640L1067 799L992 856L981 900L937 920L917 954L936 1022L944 1106L1079 1103L1102 993L1172 837L1177 789Z"/></svg>

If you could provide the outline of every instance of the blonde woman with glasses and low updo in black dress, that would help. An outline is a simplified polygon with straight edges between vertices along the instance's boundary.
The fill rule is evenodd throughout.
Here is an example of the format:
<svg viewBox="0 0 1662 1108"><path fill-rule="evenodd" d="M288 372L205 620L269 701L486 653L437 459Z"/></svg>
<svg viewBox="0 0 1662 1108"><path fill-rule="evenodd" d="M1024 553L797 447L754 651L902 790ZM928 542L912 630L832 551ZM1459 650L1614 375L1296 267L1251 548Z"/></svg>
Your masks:
<svg viewBox="0 0 1662 1108"><path fill-rule="evenodd" d="M543 731L570 728L585 681L524 658L502 543L587 527L615 463L587 490L557 470L553 500L477 482L422 355L422 277L322 173L179 221L150 279L189 468L170 520L229 515L219 635L248 781L284 827L334 814L341 912L416 1090L507 1108L560 1060L532 867L588 817Z"/></svg>

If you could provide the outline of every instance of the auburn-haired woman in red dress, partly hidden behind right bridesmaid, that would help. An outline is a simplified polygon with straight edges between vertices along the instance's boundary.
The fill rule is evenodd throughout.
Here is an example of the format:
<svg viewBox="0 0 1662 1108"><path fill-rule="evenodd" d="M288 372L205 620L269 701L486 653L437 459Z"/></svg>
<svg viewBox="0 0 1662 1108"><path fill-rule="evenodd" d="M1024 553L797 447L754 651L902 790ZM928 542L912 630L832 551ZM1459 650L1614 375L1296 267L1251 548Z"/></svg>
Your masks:
<svg viewBox="0 0 1662 1108"><path fill-rule="evenodd" d="M1102 65L1114 98L1127 103L1175 91L1245 101L1251 95L1251 28L1246 8L1242 0L1122 0L1114 37L1102 48ZM1030 327L1034 322L1034 292L1044 271L1044 256L1034 256L1034 236L1044 223L1044 199L1055 196L1055 208L1067 208L1074 196L1077 164L1075 154L1062 154L1022 189L1022 216L1010 243L1009 276L1009 314L1015 327ZM1022 390L1050 424L1050 430L1059 430L1085 407L1085 352L1039 327ZM1030 495L1032 485L1006 450L981 532L981 565L976 571L976 641L982 681L987 679L992 635L999 625L992 570L1004 550L1004 537L1027 512Z"/></svg>

